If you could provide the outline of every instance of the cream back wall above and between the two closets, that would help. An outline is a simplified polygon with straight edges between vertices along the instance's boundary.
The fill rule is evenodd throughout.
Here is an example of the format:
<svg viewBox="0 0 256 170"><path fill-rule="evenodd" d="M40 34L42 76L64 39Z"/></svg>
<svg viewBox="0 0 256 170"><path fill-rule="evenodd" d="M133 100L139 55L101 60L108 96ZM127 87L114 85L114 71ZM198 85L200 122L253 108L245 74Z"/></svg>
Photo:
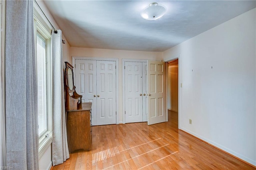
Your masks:
<svg viewBox="0 0 256 170"><path fill-rule="evenodd" d="M122 59L148 59L148 60L162 60L162 52L142 52L142 51L126 51L126 50L106 50L95 48L78 48L71 47L71 56L83 57L102 57L102 58L118 58L119 59L119 123L122 123ZM71 63L71 62L70 62Z"/></svg>

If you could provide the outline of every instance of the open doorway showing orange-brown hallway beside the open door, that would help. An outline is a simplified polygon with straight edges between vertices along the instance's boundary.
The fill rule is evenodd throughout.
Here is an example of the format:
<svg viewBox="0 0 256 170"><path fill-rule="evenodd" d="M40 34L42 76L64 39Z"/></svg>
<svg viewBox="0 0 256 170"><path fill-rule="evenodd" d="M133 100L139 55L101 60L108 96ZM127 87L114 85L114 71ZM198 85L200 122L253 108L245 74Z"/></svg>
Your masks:
<svg viewBox="0 0 256 170"><path fill-rule="evenodd" d="M168 120L178 116L178 59L167 62Z"/></svg>

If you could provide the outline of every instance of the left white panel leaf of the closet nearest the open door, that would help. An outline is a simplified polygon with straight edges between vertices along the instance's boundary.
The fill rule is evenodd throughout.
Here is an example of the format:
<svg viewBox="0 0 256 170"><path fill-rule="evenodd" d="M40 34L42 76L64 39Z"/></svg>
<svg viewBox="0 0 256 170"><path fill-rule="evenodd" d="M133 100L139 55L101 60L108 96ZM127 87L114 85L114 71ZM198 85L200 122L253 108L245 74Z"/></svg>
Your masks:
<svg viewBox="0 0 256 170"><path fill-rule="evenodd" d="M125 62L125 122L142 122L142 62Z"/></svg>

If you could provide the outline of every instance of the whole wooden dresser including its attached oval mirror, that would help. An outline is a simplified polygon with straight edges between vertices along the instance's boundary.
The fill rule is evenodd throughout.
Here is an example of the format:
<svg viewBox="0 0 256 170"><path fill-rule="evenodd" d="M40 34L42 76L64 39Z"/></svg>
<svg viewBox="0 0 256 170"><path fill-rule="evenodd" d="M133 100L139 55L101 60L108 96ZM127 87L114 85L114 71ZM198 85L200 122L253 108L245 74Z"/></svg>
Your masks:
<svg viewBox="0 0 256 170"><path fill-rule="evenodd" d="M92 103L82 103L82 95L76 93L73 66L65 62L64 89L68 150L90 150L92 144Z"/></svg>

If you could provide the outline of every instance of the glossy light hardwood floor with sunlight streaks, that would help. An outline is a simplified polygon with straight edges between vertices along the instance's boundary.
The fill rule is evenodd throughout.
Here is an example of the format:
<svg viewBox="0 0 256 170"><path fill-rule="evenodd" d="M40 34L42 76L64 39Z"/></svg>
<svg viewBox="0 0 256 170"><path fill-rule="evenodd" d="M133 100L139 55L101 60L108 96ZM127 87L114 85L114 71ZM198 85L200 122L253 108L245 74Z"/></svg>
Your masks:
<svg viewBox="0 0 256 170"><path fill-rule="evenodd" d="M252 166L178 130L178 113L168 122L92 127L92 150L78 150L53 170L255 170Z"/></svg>

